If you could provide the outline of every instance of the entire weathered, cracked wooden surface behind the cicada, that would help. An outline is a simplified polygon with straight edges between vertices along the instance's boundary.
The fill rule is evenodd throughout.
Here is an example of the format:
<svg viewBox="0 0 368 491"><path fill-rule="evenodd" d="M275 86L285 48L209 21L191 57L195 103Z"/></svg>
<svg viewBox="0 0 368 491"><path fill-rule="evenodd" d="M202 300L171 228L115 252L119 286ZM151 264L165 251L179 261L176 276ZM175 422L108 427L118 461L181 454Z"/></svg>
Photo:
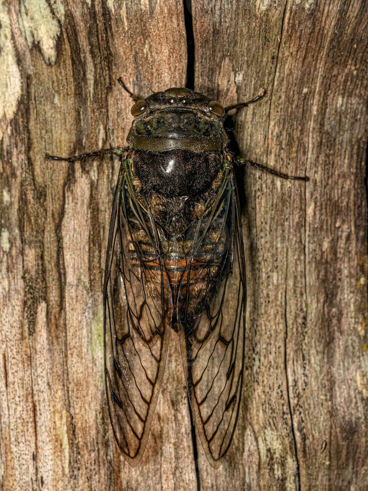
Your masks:
<svg viewBox="0 0 368 491"><path fill-rule="evenodd" d="M187 2L187 5L190 4ZM238 429L202 489L368 488L364 0L193 2L195 89L238 112L247 158L307 185L240 177L248 282ZM185 84L183 3L21 0L0 6L0 483L23 489L193 489L172 337L145 455L113 439L103 384L102 282L131 99ZM199 444L200 445L200 444Z"/></svg>

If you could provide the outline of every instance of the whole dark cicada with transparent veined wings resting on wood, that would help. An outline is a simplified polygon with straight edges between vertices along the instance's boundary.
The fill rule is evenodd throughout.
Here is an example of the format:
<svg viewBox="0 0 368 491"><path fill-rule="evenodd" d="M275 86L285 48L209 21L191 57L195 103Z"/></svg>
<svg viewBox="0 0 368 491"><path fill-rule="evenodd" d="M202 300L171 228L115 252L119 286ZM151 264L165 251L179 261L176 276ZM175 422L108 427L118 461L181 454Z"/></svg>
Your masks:
<svg viewBox="0 0 368 491"><path fill-rule="evenodd" d="M126 89L121 79L121 85ZM228 451L244 376L246 273L228 111L170 88L134 98L120 158L104 280L105 380L116 441L132 466L150 432L170 336L179 336L191 411L209 463Z"/></svg>

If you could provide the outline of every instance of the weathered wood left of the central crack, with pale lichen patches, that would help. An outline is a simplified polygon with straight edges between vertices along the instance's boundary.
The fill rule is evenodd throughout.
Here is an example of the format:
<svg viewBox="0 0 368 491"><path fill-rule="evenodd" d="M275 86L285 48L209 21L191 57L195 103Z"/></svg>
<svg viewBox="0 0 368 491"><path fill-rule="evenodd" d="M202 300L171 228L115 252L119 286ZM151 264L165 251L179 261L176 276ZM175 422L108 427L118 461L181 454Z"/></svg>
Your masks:
<svg viewBox="0 0 368 491"><path fill-rule="evenodd" d="M0 22L2 487L192 488L175 343L138 470L110 429L102 285L119 163L44 159L125 144L132 100L118 76L144 96L142 82L185 83L182 3L22 0L3 2Z"/></svg>

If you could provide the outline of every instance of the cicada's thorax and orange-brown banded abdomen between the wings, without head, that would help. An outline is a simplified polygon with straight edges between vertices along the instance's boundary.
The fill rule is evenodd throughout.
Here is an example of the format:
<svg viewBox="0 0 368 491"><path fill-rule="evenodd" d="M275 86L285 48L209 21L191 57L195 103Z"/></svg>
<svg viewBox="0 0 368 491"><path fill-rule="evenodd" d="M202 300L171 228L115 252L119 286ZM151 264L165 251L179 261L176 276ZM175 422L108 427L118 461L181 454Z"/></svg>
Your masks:
<svg viewBox="0 0 368 491"><path fill-rule="evenodd" d="M221 281L230 219L224 162L220 152L129 152L130 262L150 295L163 295L175 331L195 322ZM132 194L144 216L133 210ZM187 305L189 293L195 305Z"/></svg>

